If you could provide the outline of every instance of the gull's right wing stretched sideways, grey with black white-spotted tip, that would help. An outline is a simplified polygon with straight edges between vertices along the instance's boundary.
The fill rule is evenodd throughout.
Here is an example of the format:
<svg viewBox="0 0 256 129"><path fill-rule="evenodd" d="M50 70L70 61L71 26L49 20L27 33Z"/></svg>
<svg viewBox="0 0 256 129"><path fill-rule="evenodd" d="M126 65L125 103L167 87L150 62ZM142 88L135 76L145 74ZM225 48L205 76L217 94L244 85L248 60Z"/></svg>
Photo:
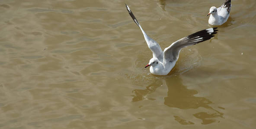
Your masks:
<svg viewBox="0 0 256 129"><path fill-rule="evenodd" d="M191 34L187 37L184 37L174 43L172 43L169 47L164 49L163 51L163 64L167 62L173 62L177 61L179 58L179 51L190 45L195 45L197 43L201 43L205 40L211 39L211 37L214 37L214 34L216 34L218 30L217 28L208 28L202 31L198 31L194 34Z"/></svg>

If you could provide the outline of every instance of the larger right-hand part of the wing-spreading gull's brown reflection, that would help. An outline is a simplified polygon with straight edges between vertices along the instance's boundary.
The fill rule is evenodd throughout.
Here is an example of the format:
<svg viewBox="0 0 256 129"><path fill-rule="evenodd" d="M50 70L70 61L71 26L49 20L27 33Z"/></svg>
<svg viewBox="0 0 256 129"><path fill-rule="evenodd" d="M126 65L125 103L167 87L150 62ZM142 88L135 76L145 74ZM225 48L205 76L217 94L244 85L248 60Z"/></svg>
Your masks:
<svg viewBox="0 0 256 129"><path fill-rule="evenodd" d="M213 113L199 112L193 114L194 117L201 119L202 124L210 124L216 120L211 119L214 117L223 118L223 113L213 109L209 106L213 102L204 97L194 96L198 92L194 89L187 89L181 82L179 77L175 77L176 83L173 85L173 80L165 80L166 86L168 87L167 97L164 98L164 104L169 107L176 107L179 109L197 109L204 107ZM179 82L179 83L177 83Z"/></svg>

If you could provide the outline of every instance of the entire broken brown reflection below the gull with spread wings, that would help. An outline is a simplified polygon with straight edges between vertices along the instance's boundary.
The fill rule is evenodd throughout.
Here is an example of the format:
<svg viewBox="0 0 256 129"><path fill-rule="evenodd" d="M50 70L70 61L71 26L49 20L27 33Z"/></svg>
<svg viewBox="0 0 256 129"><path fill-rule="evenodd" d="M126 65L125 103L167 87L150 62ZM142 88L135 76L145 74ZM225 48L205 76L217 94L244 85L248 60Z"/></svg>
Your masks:
<svg viewBox="0 0 256 129"><path fill-rule="evenodd" d="M160 83L160 81L162 81L162 83ZM168 87L167 96L164 97L164 104L168 107L176 107L182 110L203 107L207 112L201 111L193 114L194 117L202 120L202 124L219 122L216 120L217 117L224 118L223 113L215 110L209 105L213 103L211 100L204 97L194 96L198 92L194 89L187 89L187 87L182 84L182 80L179 76L160 78L147 86L146 89L134 89L133 92L135 95L132 98L132 101L141 101L144 99L154 100L154 98L148 98L148 95L155 92L162 84L163 86ZM179 116L173 117L182 125L194 124L191 121L183 120Z"/></svg>

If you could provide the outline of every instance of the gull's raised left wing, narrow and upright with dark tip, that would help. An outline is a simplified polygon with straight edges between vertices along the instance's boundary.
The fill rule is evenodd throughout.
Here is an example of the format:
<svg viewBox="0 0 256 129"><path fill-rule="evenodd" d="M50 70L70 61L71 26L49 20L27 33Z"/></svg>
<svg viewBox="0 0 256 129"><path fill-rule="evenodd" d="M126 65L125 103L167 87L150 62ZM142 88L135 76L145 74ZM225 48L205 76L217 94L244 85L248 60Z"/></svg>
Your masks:
<svg viewBox="0 0 256 129"><path fill-rule="evenodd" d="M125 6L129 12L129 14L131 15L131 18L133 19L133 21L138 25L139 28L141 28L140 23L138 22L138 20L135 18L135 16L131 12L131 9L126 4L125 4ZM153 40L149 36L147 36L147 34L145 33L145 31L142 28L141 28L141 31L144 35L146 42L147 42L147 46L153 52L153 57L156 57L156 58L163 57L163 51L162 51L160 45L155 40ZM162 55L162 56L160 56L160 55Z"/></svg>

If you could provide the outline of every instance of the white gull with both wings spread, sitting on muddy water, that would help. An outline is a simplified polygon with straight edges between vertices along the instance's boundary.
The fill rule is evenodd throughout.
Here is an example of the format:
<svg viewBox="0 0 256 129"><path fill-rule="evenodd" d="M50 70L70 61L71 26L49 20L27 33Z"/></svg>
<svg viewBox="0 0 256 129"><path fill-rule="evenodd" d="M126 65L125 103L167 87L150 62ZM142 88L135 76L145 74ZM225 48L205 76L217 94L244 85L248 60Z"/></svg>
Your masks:
<svg viewBox="0 0 256 129"><path fill-rule="evenodd" d="M180 40L172 43L169 47L165 48L163 51L160 45L153 39L151 39L145 31L141 28L138 20L135 18L134 14L131 12L131 9L125 4L129 14L133 21L141 29L144 38L147 42L147 46L153 52L153 58L150 59L149 63L145 66L147 68L150 66L150 73L154 75L167 75L173 69L176 61L179 58L179 52L182 48L190 45L195 45L197 43L203 42L205 40L211 39L214 37L213 34L216 34L217 28L208 28L202 31L198 31L194 34L191 34L187 37L183 37Z"/></svg>

